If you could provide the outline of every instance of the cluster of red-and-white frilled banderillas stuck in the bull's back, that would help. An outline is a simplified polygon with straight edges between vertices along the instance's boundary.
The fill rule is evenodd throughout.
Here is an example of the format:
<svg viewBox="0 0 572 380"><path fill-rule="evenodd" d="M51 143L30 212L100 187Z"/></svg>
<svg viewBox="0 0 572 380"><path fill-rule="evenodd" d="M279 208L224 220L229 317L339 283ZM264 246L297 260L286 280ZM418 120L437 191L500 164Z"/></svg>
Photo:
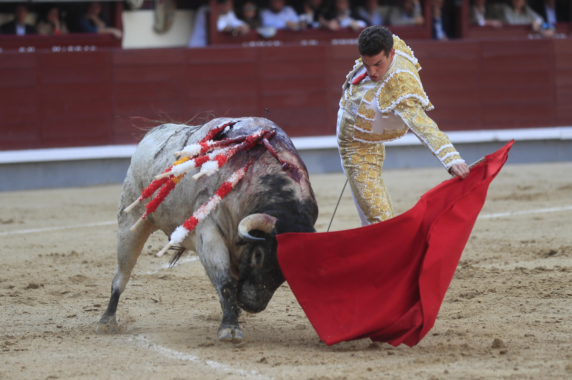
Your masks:
<svg viewBox="0 0 572 380"><path fill-rule="evenodd" d="M165 200L167 195L169 195L170 191L173 190L177 183L181 181L182 177L195 167L200 167L198 173L192 177L196 181L203 175L215 174L233 155L241 151L249 150L256 145L263 143L273 157L276 157L281 163L283 163L284 169L293 169L293 166L285 163L277 157L276 152L268 142L268 139L275 135L276 131L259 129L247 136L215 140L216 137L223 133L225 128L232 127L235 124L236 122L231 122L217 126L210 130L209 133L206 134L206 136L199 142L185 146L181 151L174 153L175 156L182 157L173 162L173 164L165 169L163 173L157 175L154 181L141 191L141 196L125 208L125 212L129 213L129 211L131 211L133 207L138 205L138 203L143 199L151 197L158 190L157 195L145 205L145 212L133 227L131 227L131 231L135 231L149 214L154 213L154 211L157 210L157 207ZM227 181L221 183L219 189L215 191L215 194L203 205L198 207L190 218L186 219L182 225L178 226L173 231L170 236L169 243L157 253L157 257L161 257L170 247L182 243L190 231L194 230L198 222L206 218L210 212L216 208L219 202L223 200L225 195L234 189L236 184L244 178L248 167L252 165L253 162L254 159L251 159L244 167L236 170L227 179Z"/></svg>

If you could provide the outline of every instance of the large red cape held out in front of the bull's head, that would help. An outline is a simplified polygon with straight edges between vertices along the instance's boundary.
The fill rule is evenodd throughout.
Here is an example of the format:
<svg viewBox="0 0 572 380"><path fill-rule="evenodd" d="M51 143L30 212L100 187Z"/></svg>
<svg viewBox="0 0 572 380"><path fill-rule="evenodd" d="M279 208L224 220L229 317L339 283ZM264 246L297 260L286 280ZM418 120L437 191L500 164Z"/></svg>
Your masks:
<svg viewBox="0 0 572 380"><path fill-rule="evenodd" d="M488 185L513 141L374 225L277 236L278 260L320 339L414 346L431 330Z"/></svg>

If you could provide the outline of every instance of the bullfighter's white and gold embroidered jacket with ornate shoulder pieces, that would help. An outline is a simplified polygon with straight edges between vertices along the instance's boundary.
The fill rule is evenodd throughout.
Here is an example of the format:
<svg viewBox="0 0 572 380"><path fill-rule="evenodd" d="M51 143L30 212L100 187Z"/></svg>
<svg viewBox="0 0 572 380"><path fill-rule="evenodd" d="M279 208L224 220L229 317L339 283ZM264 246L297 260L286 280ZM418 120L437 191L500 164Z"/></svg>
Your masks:
<svg viewBox="0 0 572 380"><path fill-rule="evenodd" d="M343 86L338 135L340 129L351 128L355 141L381 143L398 139L411 129L447 170L464 162L447 135L425 113L433 105L423 90L418 73L421 66L413 51L396 35L394 48L394 61L379 82L366 76L353 85L353 79L366 72L362 59L356 61Z"/></svg>

